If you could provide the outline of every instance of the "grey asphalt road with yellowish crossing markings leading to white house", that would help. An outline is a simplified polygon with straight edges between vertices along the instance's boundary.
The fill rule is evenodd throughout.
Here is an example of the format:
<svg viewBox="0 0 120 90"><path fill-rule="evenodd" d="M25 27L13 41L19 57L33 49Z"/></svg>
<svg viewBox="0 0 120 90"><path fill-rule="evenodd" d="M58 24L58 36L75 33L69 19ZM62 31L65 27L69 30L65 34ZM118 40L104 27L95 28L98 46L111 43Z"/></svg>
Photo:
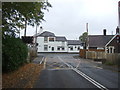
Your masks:
<svg viewBox="0 0 120 90"><path fill-rule="evenodd" d="M100 62L74 58L78 54L42 54L44 70L34 88L118 88L118 72Z"/></svg>

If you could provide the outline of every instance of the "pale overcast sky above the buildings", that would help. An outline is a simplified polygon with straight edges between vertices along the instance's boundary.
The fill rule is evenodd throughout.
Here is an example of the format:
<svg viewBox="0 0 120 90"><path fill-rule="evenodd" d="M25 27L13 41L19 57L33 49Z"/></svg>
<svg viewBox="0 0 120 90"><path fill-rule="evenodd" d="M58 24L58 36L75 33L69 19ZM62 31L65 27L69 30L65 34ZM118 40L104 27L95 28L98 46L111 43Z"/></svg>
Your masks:
<svg viewBox="0 0 120 90"><path fill-rule="evenodd" d="M53 32L56 36L78 39L86 31L89 35L115 34L118 25L119 0L48 0L52 4L45 11L43 31ZM38 27L38 31L39 31ZM21 35L24 33L21 32ZM27 28L27 36L35 34L35 28Z"/></svg>

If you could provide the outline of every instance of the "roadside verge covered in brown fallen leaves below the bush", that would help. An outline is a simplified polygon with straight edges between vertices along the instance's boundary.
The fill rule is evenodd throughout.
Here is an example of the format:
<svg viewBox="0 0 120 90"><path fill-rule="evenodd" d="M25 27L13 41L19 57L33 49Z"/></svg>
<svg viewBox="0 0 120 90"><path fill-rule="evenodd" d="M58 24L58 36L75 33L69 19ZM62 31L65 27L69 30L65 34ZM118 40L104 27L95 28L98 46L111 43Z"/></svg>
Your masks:
<svg viewBox="0 0 120 90"><path fill-rule="evenodd" d="M2 88L33 88L43 64L25 64L18 70L2 74Z"/></svg>

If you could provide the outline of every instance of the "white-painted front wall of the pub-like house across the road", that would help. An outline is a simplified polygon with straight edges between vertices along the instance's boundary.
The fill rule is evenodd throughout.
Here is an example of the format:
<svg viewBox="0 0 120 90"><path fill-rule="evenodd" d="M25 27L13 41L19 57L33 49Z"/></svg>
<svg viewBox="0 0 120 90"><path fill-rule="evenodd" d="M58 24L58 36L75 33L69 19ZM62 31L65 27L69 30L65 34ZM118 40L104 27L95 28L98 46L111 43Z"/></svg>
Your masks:
<svg viewBox="0 0 120 90"><path fill-rule="evenodd" d="M83 49L80 45L67 45L67 42L61 42L61 41L54 41L54 42L44 42L44 37L38 37L37 38L38 43L38 51L37 52L69 52L69 53L79 53L78 47L80 49ZM44 51L44 45L48 45L48 51ZM49 47L50 46L50 47ZM63 46L64 50L60 48L60 50L57 50L58 46ZM52 47L54 47L54 51L52 51ZM73 47L73 50L70 50L69 47ZM75 48L76 47L76 48Z"/></svg>

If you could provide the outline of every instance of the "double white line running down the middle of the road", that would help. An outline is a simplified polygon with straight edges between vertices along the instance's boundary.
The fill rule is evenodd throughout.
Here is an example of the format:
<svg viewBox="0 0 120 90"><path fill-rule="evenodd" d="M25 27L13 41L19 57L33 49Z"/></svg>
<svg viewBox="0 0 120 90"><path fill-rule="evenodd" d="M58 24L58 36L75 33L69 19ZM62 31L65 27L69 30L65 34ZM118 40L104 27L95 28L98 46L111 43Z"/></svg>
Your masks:
<svg viewBox="0 0 120 90"><path fill-rule="evenodd" d="M64 62L59 56L58 58L64 63L66 64L68 67L70 67L73 71L75 71L76 73L78 73L79 75L81 75L82 77L84 77L86 80L88 80L89 82L91 82L92 84L94 84L96 87L100 88L101 90L108 90L105 86L101 85L100 83L98 83L97 81L95 81L94 79L90 78L89 76L87 76L86 74L84 74L83 72L81 72L80 70L78 70L77 68L74 68L72 65Z"/></svg>

